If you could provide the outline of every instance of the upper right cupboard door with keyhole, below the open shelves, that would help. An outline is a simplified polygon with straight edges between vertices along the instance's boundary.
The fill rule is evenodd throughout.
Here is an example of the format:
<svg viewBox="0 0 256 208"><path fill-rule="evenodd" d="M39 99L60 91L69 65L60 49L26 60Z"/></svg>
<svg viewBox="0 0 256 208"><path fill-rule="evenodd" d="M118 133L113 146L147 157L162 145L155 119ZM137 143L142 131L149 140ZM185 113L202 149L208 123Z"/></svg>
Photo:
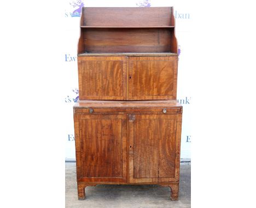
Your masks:
<svg viewBox="0 0 256 208"><path fill-rule="evenodd" d="M175 100L177 58L129 57L129 100Z"/></svg>

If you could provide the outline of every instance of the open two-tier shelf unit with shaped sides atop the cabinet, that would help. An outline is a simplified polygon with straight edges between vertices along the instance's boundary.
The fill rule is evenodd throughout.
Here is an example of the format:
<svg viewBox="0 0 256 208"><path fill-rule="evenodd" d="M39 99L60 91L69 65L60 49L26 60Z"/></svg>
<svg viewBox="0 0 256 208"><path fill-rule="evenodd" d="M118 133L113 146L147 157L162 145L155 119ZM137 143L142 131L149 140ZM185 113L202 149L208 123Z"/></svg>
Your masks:
<svg viewBox="0 0 256 208"><path fill-rule="evenodd" d="M79 56L109 56L109 53L177 56L173 8L83 7Z"/></svg>

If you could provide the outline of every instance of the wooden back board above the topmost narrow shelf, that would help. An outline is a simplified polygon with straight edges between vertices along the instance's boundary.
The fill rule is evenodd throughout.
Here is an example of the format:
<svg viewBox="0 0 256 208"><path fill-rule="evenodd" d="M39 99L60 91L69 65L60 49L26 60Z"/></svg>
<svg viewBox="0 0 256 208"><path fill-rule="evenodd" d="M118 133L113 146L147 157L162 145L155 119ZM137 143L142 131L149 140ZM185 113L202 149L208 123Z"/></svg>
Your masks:
<svg viewBox="0 0 256 208"><path fill-rule="evenodd" d="M83 26L172 26L171 7L87 7Z"/></svg>

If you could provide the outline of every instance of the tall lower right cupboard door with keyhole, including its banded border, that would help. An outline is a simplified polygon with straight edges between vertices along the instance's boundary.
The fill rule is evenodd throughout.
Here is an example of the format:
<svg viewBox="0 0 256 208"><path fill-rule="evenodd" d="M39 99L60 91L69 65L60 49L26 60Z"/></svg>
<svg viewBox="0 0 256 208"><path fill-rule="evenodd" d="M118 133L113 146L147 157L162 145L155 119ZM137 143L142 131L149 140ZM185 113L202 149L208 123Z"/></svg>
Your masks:
<svg viewBox="0 0 256 208"><path fill-rule="evenodd" d="M181 114L129 115L129 182L179 180Z"/></svg>

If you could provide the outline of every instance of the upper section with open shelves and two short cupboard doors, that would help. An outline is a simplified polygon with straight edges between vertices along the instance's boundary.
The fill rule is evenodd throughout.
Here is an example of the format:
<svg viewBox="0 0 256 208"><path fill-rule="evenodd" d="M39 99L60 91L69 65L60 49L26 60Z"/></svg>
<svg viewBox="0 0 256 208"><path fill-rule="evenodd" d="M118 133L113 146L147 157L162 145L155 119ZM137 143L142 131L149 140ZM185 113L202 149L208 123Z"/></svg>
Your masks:
<svg viewBox="0 0 256 208"><path fill-rule="evenodd" d="M174 26L171 7L83 8L79 99L175 100Z"/></svg>

